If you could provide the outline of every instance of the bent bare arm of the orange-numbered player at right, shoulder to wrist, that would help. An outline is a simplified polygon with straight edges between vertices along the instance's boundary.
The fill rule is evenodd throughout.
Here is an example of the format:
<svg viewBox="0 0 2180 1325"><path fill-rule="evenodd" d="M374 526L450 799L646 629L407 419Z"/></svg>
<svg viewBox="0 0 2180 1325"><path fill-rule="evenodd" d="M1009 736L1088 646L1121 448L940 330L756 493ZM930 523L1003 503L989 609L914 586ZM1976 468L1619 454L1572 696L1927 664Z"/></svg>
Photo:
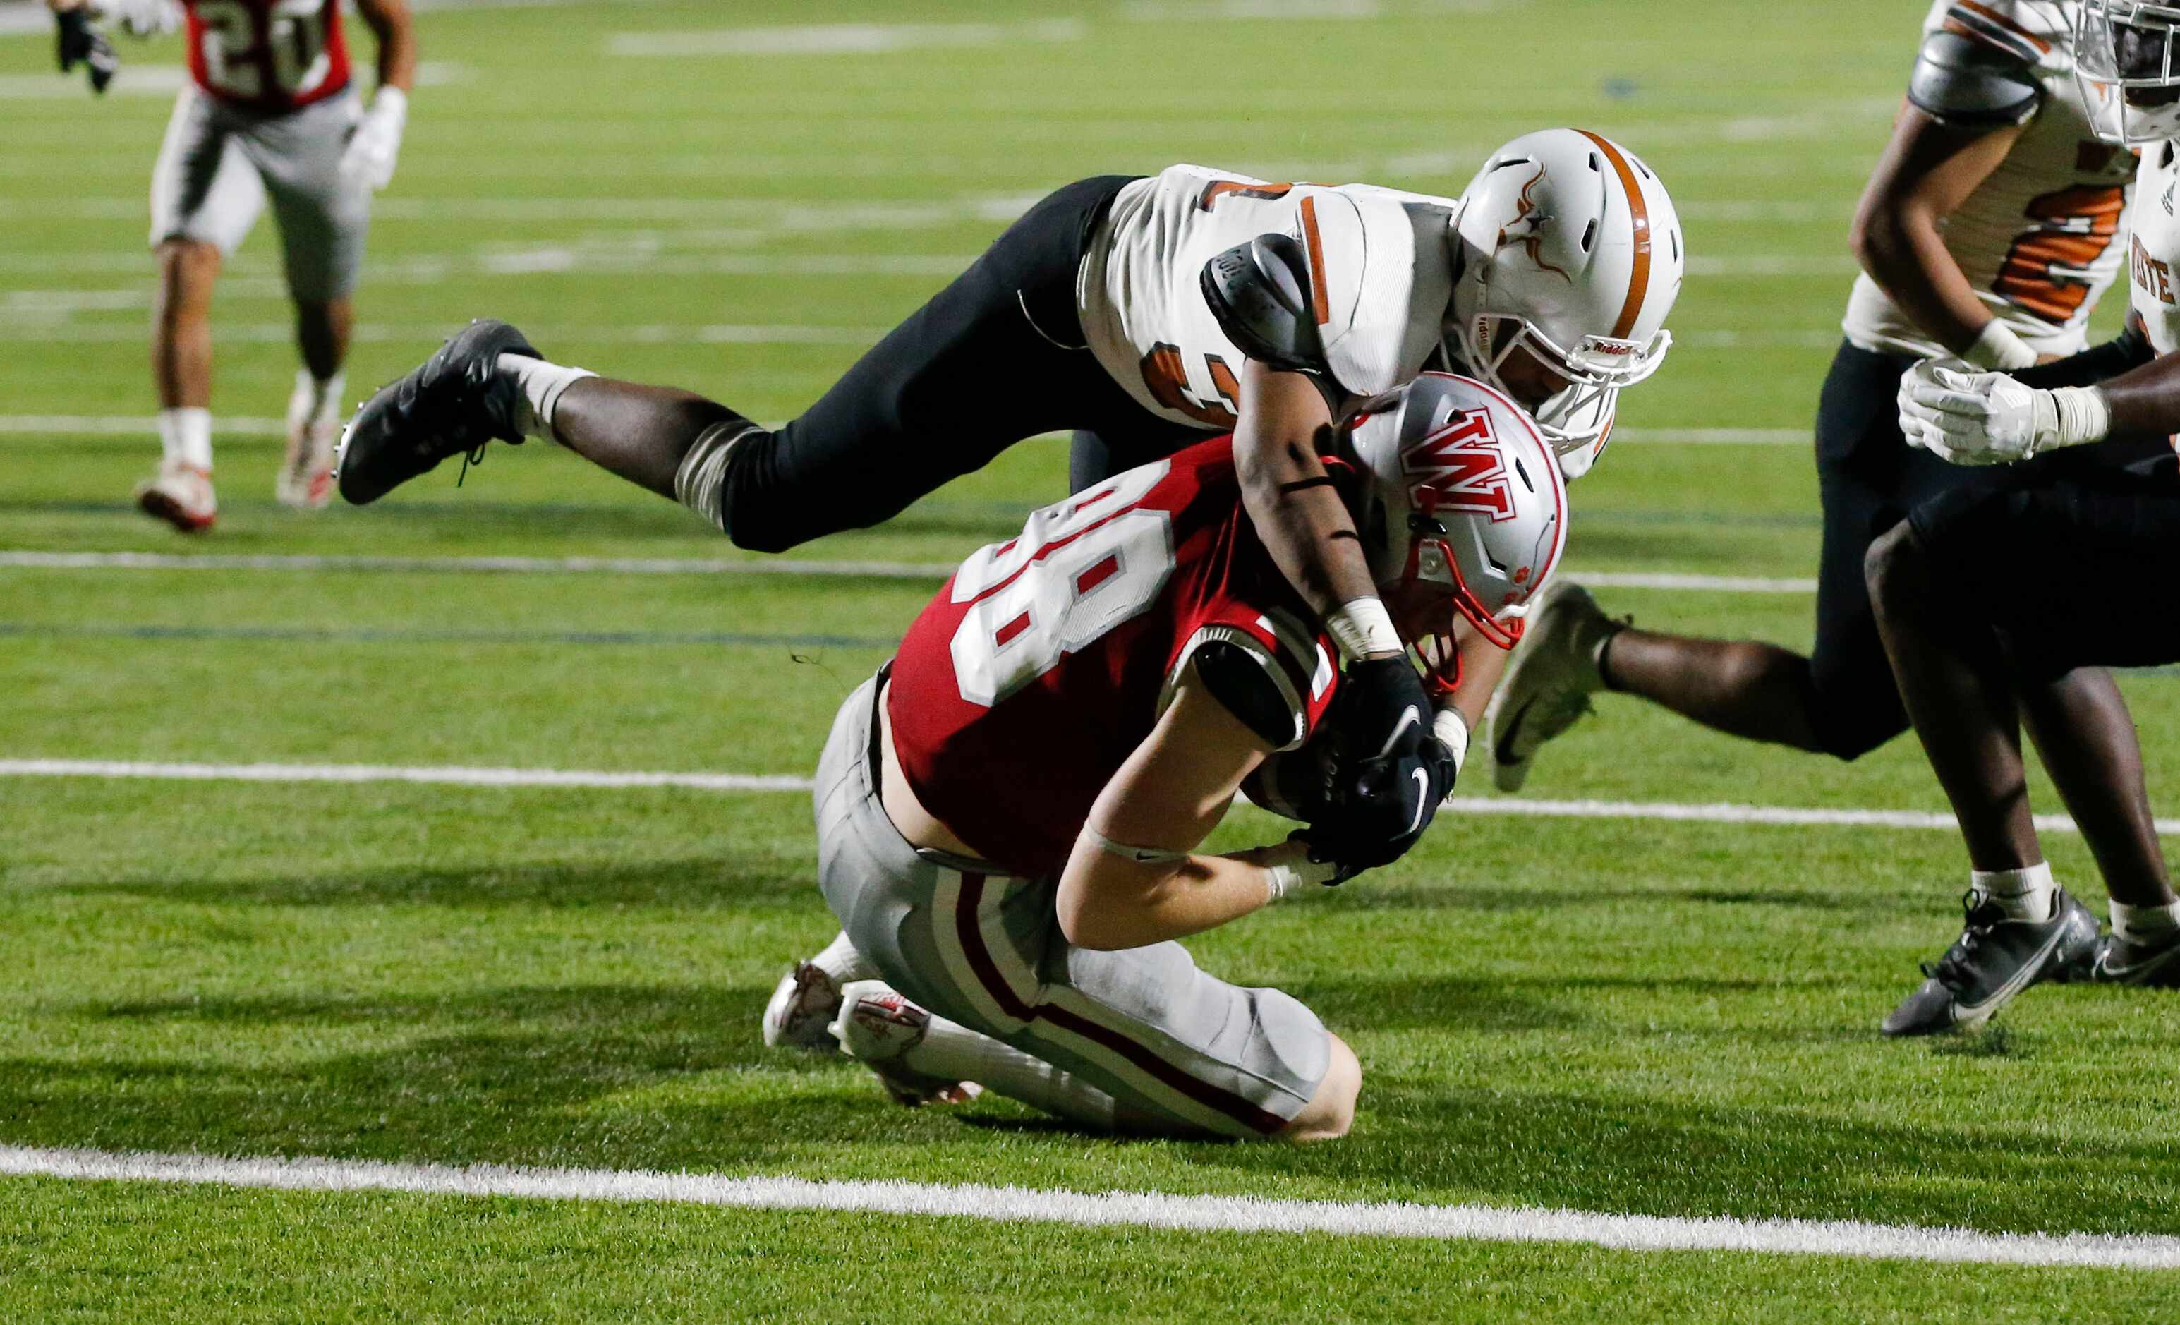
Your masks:
<svg viewBox="0 0 2180 1325"><path fill-rule="evenodd" d="M1982 368L2021 368L2036 353L1993 320L1938 224L2006 159L2040 96L2032 68L1971 37L1931 33L1855 207L1862 270L1923 331Z"/></svg>

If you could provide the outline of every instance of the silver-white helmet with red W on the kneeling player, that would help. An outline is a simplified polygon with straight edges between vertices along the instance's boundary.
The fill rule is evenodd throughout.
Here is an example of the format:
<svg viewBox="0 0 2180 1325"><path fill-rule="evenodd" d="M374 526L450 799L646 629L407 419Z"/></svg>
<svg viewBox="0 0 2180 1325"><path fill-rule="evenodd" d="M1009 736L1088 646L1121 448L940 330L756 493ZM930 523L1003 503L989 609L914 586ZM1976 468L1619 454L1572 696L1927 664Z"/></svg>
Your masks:
<svg viewBox="0 0 2180 1325"><path fill-rule="evenodd" d="M1371 578L1445 588L1454 610L1513 647L1567 543L1567 490L1537 425L1482 381L1424 373L1345 427L1369 477L1356 525ZM1410 643L1437 667L1426 641Z"/></svg>

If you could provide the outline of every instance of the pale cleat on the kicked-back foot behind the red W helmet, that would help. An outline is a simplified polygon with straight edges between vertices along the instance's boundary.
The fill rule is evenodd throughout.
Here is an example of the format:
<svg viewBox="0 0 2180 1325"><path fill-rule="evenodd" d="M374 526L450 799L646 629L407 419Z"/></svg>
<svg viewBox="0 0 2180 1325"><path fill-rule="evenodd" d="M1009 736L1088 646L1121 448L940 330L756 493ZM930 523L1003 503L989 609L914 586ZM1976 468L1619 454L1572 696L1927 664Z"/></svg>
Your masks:
<svg viewBox="0 0 2180 1325"><path fill-rule="evenodd" d="M1506 678L1485 710L1491 782L1519 791L1537 747L1589 713L1591 691L1604 689L1598 647L1622 630L1581 584L1548 586L1528 610L1528 625Z"/></svg>

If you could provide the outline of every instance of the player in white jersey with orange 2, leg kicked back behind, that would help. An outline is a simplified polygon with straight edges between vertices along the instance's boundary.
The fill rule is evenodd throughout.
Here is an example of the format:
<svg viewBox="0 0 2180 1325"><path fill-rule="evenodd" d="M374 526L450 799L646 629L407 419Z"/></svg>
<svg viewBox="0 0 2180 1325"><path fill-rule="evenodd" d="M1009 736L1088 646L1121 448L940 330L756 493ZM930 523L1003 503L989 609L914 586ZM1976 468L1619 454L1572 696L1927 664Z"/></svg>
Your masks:
<svg viewBox="0 0 2180 1325"><path fill-rule="evenodd" d="M1825 510L1816 647L1687 639L1609 621L1578 584L1539 601L1493 706L1498 782L1624 691L1716 730L1860 758L1908 730L1864 586L1864 554L1916 503L1964 475L1908 447L1892 403L1918 357L2019 368L2071 355L2119 272L2134 155L2099 142L2073 78L2073 4L1938 0L1892 139L1862 194L1862 277L1825 377L1816 469ZM2069 710L2110 715L2102 671L2073 678Z"/></svg>

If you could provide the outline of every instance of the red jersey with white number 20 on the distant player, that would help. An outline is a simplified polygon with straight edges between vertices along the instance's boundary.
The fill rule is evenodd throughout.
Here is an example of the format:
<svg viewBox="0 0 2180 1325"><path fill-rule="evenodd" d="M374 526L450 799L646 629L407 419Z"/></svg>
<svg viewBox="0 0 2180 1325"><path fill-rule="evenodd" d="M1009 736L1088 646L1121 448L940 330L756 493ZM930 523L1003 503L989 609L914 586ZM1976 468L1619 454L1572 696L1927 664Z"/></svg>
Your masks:
<svg viewBox="0 0 2180 1325"><path fill-rule="evenodd" d="M340 0L181 0L190 76L207 94L279 116L349 85Z"/></svg>

